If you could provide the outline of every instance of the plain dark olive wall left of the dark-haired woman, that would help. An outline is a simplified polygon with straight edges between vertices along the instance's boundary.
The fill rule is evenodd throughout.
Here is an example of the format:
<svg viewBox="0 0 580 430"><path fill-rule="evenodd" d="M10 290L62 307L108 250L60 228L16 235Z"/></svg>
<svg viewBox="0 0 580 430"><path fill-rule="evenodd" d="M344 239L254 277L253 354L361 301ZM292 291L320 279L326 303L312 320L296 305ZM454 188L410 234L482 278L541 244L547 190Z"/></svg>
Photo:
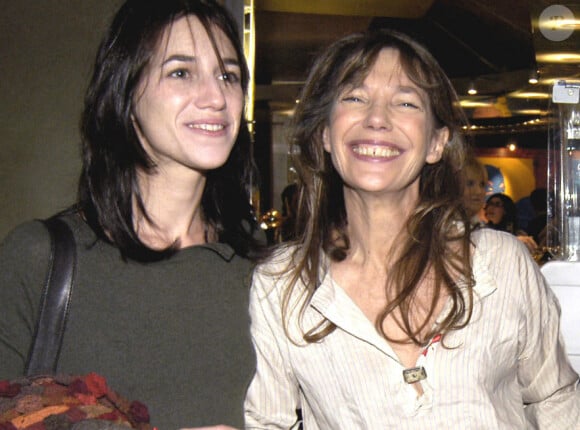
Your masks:
<svg viewBox="0 0 580 430"><path fill-rule="evenodd" d="M2 2L0 237L74 201L83 93L120 2Z"/></svg>

